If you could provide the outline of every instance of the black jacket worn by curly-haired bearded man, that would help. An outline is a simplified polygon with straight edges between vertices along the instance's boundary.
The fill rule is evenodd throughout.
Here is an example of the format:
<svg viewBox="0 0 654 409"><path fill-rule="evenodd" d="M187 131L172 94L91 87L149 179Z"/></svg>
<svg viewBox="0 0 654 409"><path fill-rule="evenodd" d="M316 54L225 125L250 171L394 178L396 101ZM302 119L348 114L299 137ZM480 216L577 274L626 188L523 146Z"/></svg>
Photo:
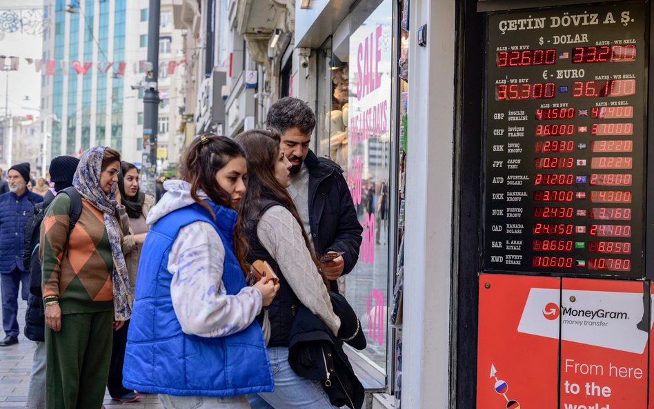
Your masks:
<svg viewBox="0 0 654 409"><path fill-rule="evenodd" d="M343 170L333 161L309 150L304 159L309 171L309 225L315 251L344 252L343 274L352 271L359 259L361 232Z"/></svg>

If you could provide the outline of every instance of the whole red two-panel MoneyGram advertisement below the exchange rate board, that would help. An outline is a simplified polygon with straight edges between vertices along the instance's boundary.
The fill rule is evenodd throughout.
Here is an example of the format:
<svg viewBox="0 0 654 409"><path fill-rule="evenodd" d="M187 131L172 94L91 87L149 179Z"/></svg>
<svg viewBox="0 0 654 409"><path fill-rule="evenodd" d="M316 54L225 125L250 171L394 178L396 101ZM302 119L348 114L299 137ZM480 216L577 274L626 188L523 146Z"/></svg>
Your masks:
<svg viewBox="0 0 654 409"><path fill-rule="evenodd" d="M481 275L477 408L646 408L649 299L642 281Z"/></svg>

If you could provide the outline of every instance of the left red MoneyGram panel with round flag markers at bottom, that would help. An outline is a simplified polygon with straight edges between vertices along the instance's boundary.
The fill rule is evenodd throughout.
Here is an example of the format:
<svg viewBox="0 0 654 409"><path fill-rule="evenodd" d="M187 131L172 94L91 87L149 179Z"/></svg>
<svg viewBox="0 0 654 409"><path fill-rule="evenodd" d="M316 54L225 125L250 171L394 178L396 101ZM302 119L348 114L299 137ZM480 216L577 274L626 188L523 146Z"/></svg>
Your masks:
<svg viewBox="0 0 654 409"><path fill-rule="evenodd" d="M559 297L557 278L479 277L477 408L557 407Z"/></svg>

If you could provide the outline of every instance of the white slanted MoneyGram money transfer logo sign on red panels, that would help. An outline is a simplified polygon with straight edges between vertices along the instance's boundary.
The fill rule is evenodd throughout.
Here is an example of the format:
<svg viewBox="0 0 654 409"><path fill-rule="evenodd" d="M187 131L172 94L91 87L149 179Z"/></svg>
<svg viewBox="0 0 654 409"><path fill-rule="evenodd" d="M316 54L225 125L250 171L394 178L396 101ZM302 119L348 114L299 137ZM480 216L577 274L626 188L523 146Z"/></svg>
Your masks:
<svg viewBox="0 0 654 409"><path fill-rule="evenodd" d="M563 300L560 307L559 299ZM620 306L620 310L615 310L615 306ZM637 328L637 323L642 320L643 308L642 294L635 292L532 288L517 330L642 354L648 335ZM559 311L560 318L556 319Z"/></svg>

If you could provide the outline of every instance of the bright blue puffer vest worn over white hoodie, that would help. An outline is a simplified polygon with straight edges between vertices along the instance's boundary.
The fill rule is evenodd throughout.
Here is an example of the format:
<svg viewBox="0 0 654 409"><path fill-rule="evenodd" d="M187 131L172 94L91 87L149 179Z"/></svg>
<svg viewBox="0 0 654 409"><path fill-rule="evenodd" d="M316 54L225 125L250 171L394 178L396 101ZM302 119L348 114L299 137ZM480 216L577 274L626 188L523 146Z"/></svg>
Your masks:
<svg viewBox="0 0 654 409"><path fill-rule="evenodd" d="M148 393L228 397L273 391L261 327L254 321L228 337L206 338L181 330L170 299L168 255L179 230L194 221L210 223L225 248L222 281L236 295L246 281L233 252L236 212L197 203L170 212L148 232L137 275L136 295L127 337L123 385Z"/></svg>

